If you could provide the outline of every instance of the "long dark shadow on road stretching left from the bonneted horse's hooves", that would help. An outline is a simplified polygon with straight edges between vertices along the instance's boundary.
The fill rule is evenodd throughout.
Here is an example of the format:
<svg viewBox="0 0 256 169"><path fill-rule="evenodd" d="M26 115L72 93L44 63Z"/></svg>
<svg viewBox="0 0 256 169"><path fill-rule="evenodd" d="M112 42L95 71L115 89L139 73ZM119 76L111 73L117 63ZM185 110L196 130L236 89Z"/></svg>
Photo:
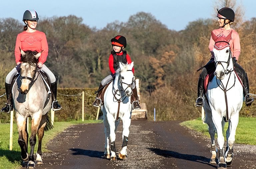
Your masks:
<svg viewBox="0 0 256 169"><path fill-rule="evenodd" d="M168 157L168 158L178 158L178 159L184 159L194 162L199 162L202 164L207 164L209 166L212 166L214 168L217 168L216 165L209 164L210 159L203 157L203 156L197 156L197 155L190 155L190 154L181 154L175 151L170 150L161 150L159 148L148 148L150 151L156 153L157 155Z"/></svg>

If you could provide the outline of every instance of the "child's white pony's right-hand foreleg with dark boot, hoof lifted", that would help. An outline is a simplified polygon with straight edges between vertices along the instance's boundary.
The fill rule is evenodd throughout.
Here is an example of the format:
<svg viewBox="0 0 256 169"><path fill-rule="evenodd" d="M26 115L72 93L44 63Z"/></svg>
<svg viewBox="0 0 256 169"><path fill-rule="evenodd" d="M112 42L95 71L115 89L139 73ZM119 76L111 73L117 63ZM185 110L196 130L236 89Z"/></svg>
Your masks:
<svg viewBox="0 0 256 169"><path fill-rule="evenodd" d="M130 130L129 127L131 125L131 119L128 117L123 117L123 134L122 134L122 138L123 138L123 144L122 144L122 149L120 151L120 153L118 154L118 157L120 159L125 159L127 156L127 143L128 143L128 136L130 134Z"/></svg>

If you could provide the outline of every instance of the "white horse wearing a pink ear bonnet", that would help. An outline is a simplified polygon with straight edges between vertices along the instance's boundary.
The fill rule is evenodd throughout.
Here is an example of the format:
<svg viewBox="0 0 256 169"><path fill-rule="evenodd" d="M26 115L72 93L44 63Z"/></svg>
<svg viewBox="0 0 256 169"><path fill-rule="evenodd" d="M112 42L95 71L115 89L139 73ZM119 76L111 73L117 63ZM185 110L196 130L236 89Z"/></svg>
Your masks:
<svg viewBox="0 0 256 169"><path fill-rule="evenodd" d="M233 145L235 142L236 128L238 125L239 111L243 105L243 87L239 82L238 76L234 72L232 54L229 46L230 36L218 38L212 33L215 41L214 59L216 70L214 77L209 82L206 90L205 122L209 126L211 136L211 161L216 163L215 158L217 149L215 147L214 135L218 134L219 163L218 168L227 168L233 159ZM227 145L224 152L223 128L225 121L228 121L226 131Z"/></svg>

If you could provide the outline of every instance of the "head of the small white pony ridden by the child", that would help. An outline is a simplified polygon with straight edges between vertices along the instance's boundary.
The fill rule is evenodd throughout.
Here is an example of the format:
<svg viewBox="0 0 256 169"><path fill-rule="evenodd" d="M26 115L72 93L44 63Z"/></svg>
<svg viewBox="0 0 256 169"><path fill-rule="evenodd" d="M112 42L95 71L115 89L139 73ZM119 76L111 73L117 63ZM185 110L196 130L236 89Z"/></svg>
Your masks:
<svg viewBox="0 0 256 169"><path fill-rule="evenodd" d="M133 68L133 62L131 64L123 64L122 62L119 62L120 70L117 71L119 84L121 87L121 90L124 91L125 95L127 97L132 95L132 83L134 80L134 75L132 72Z"/></svg>

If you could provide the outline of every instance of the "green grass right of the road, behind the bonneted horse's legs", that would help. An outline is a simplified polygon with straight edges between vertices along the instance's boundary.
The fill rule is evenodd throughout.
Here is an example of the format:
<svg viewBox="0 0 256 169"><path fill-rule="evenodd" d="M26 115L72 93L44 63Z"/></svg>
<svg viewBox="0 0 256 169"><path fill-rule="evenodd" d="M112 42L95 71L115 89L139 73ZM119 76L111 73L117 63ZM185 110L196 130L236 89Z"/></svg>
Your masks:
<svg viewBox="0 0 256 169"><path fill-rule="evenodd" d="M255 130L255 124L256 124L256 118L252 117L239 117L239 123L236 129L236 141L235 143L239 144L250 144L250 145L256 145L256 130ZM185 121L180 123L181 126L186 126L190 129L193 129L197 132L202 133L203 135L210 137L208 133L208 125L203 124L201 118ZM223 135L225 137L225 133L227 130L227 123L224 127ZM215 135L215 138L217 138L217 134ZM225 138L226 140L226 138Z"/></svg>

